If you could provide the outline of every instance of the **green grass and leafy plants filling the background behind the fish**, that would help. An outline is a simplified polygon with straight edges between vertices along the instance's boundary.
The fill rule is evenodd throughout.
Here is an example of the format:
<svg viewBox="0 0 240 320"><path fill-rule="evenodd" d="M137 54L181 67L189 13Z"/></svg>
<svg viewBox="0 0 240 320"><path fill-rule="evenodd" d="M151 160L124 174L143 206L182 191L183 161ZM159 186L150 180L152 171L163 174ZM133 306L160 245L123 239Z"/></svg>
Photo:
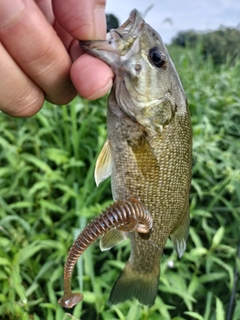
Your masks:
<svg viewBox="0 0 240 320"><path fill-rule="evenodd" d="M48 103L35 117L0 117L0 319L238 320L240 314L240 62L217 70L199 48L170 47L193 124L191 227L178 260L171 241L153 307L107 299L129 243L79 260L73 289L84 300L64 310L63 267L74 238L111 200L94 164L106 138L106 98ZM147 262L146 262L147 263Z"/></svg>

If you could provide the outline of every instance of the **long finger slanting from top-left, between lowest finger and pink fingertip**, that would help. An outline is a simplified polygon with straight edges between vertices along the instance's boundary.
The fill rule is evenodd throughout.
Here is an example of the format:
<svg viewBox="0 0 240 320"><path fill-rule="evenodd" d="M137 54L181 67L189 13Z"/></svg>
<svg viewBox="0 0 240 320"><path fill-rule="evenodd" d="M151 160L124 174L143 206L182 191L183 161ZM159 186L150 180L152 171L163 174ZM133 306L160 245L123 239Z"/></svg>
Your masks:
<svg viewBox="0 0 240 320"><path fill-rule="evenodd" d="M16 10L19 3L23 5ZM1 1L0 21L1 42L19 67L43 89L46 99L56 104L72 100L76 92L69 75L71 59L35 2Z"/></svg>

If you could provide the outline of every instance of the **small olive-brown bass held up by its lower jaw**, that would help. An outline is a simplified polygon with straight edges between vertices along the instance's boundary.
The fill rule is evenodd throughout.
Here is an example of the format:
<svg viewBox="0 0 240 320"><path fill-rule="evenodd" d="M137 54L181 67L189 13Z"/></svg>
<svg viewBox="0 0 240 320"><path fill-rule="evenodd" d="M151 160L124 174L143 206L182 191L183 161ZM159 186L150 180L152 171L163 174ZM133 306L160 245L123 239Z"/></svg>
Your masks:
<svg viewBox="0 0 240 320"><path fill-rule="evenodd" d="M192 131L186 96L161 36L136 9L119 28L110 30L106 40L80 41L80 45L115 74L96 184L111 177L114 201L135 195L153 218L149 239L116 229L101 238L101 250L127 238L131 245L109 301L136 298L152 306L166 241L171 238L181 258L188 238Z"/></svg>

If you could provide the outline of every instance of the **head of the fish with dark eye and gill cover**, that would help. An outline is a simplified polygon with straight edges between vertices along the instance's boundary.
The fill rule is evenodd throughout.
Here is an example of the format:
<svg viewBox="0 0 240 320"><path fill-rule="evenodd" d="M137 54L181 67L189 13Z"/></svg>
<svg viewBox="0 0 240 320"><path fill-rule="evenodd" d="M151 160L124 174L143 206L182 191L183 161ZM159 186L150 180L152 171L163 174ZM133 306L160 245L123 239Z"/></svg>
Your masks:
<svg viewBox="0 0 240 320"><path fill-rule="evenodd" d="M110 30L107 40L80 44L112 68L117 105L132 120L162 132L175 114L176 101L184 109L186 99L168 51L137 10L118 29Z"/></svg>

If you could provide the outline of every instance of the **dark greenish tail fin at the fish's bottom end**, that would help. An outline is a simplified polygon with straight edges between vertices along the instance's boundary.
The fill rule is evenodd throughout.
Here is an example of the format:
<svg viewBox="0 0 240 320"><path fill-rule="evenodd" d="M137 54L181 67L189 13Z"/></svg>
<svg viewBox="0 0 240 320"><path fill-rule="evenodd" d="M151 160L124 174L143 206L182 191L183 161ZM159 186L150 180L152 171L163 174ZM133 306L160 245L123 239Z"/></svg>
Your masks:
<svg viewBox="0 0 240 320"><path fill-rule="evenodd" d="M152 306L158 291L160 268L151 273L140 273L128 262L115 282L109 302L116 304L136 298L142 304Z"/></svg>

